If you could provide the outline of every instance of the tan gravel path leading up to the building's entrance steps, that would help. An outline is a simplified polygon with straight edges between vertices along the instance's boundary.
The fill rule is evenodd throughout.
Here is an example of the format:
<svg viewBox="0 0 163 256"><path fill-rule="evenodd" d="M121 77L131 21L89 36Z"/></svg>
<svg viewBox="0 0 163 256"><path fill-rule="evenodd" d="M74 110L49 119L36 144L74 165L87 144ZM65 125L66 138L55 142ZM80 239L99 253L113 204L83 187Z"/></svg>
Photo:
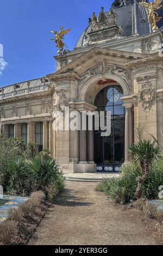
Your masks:
<svg viewBox="0 0 163 256"><path fill-rule="evenodd" d="M154 245L154 223L136 209L112 205L97 184L67 182L30 245Z"/></svg>

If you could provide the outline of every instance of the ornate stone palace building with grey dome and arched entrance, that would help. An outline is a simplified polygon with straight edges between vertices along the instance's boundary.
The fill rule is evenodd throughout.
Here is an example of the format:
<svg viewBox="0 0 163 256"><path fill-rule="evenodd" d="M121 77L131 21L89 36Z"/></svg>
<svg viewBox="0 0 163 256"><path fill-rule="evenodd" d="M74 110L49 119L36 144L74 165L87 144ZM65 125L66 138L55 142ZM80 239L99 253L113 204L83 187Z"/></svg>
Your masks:
<svg viewBox="0 0 163 256"><path fill-rule="evenodd" d="M55 57L57 70L1 88L1 134L48 148L67 172L118 171L128 146L152 134L163 142L163 19L151 26L141 0L116 0L93 13L73 51ZM163 9L158 10L163 17ZM100 131L55 131L53 114L111 111L111 135Z"/></svg>

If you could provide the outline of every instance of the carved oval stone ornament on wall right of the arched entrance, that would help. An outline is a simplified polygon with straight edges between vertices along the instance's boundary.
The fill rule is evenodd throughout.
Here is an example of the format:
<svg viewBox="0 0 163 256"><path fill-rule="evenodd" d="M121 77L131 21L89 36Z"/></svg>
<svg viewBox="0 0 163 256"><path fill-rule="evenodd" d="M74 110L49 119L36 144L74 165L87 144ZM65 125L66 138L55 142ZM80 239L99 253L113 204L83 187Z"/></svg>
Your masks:
<svg viewBox="0 0 163 256"><path fill-rule="evenodd" d="M148 77L145 77L144 79L145 81L141 84L137 97L143 110L148 113L152 109L156 89L152 86L152 83L148 80Z"/></svg>

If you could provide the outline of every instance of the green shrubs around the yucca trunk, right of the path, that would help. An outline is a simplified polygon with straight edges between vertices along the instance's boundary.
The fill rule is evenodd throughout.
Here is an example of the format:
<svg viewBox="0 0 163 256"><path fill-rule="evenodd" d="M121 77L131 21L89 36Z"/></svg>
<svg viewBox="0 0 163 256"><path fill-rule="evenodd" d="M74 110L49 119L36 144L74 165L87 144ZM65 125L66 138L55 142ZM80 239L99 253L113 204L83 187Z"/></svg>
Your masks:
<svg viewBox="0 0 163 256"><path fill-rule="evenodd" d="M161 162L161 164L160 164ZM159 186L163 184L162 160L152 164L151 172L142 184L142 197L158 198ZM136 200L137 177L141 175L139 166L133 162L124 164L119 178L104 179L102 190L118 203L129 203Z"/></svg>

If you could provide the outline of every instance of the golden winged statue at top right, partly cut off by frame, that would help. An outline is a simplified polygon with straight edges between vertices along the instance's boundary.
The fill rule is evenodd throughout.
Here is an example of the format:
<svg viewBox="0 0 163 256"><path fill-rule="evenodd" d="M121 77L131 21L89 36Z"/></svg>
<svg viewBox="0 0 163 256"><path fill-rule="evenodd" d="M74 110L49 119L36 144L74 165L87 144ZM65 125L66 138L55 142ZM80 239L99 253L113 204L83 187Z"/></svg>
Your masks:
<svg viewBox="0 0 163 256"><path fill-rule="evenodd" d="M155 0L155 2L146 3L140 2L140 4L144 5L148 9L148 19L151 23L153 31L158 30L159 28L156 26L156 23L161 20L162 17L159 17L158 13L155 10L158 10L162 7L162 0Z"/></svg>

